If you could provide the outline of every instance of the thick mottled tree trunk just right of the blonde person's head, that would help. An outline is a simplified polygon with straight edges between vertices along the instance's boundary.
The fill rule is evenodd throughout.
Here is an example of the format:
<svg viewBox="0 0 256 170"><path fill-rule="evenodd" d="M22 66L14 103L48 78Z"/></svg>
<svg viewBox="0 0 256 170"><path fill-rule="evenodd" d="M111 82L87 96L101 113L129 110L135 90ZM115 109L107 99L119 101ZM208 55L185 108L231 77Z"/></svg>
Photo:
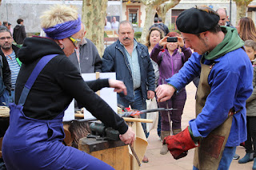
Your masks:
<svg viewBox="0 0 256 170"><path fill-rule="evenodd" d="M94 42L102 57L104 53L104 26L107 0L83 0L82 22L85 24L86 38Z"/></svg>

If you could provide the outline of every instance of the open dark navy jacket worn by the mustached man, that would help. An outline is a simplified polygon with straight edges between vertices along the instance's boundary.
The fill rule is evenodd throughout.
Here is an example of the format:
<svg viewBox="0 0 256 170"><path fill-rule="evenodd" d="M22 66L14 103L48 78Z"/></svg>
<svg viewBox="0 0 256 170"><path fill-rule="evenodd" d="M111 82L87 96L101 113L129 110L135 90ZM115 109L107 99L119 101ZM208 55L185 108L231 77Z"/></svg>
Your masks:
<svg viewBox="0 0 256 170"><path fill-rule="evenodd" d="M142 97L146 100L147 91L154 91L154 68L146 45L138 43L136 49L140 65ZM134 81L125 50L119 40L108 46L102 57L102 72L115 72L117 80L123 81L127 88L126 96L123 93L118 95L134 102Z"/></svg>

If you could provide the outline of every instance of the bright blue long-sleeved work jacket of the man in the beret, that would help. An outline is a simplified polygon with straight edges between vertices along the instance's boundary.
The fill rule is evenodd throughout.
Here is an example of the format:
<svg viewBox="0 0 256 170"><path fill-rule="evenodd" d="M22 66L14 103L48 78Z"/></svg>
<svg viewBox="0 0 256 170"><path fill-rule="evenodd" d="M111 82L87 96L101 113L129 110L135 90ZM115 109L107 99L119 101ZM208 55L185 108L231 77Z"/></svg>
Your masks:
<svg viewBox="0 0 256 170"><path fill-rule="evenodd" d="M193 53L182 69L173 77L167 79L167 83L174 85L176 89L182 89L201 70L200 60L202 55ZM226 120L230 109L234 108L238 113L234 114L230 136L226 146L237 146L246 140L246 99L252 93L253 69L249 57L243 49L236 49L218 57L214 61L205 60L204 64L211 65L208 83L210 94L198 117L190 121L190 128L194 136L206 137L214 128Z"/></svg>

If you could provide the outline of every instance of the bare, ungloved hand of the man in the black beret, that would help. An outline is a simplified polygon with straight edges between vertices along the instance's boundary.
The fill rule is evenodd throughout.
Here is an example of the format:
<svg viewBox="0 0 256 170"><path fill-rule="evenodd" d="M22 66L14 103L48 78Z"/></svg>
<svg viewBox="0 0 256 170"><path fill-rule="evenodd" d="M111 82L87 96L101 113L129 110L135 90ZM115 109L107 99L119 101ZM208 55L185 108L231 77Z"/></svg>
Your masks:
<svg viewBox="0 0 256 170"><path fill-rule="evenodd" d="M159 85L155 89L158 97L158 102L167 101L174 95L175 89L171 85Z"/></svg>

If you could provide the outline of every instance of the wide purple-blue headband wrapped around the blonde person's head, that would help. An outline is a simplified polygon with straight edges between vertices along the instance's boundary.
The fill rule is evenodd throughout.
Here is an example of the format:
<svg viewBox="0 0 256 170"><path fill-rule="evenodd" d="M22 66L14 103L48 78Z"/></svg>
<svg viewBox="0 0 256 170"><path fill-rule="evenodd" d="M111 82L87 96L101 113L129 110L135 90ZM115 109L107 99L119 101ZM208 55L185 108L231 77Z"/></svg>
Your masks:
<svg viewBox="0 0 256 170"><path fill-rule="evenodd" d="M57 40L69 38L71 35L81 30L81 18L78 16L77 20L64 22L50 28L43 28L42 30L45 31L46 37L48 38Z"/></svg>

